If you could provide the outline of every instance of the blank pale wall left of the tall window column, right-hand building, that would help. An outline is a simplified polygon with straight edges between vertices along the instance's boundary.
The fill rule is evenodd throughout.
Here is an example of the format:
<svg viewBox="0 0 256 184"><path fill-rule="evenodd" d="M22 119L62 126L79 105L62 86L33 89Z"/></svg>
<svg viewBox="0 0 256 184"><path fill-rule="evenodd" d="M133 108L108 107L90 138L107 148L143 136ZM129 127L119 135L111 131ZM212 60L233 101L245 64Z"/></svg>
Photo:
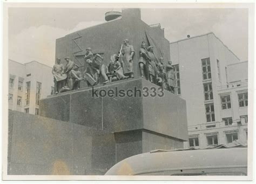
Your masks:
<svg viewBox="0 0 256 184"><path fill-rule="evenodd" d="M201 59L209 58L207 36L170 44L171 61L179 64L180 97L186 100L188 125L206 122Z"/></svg>

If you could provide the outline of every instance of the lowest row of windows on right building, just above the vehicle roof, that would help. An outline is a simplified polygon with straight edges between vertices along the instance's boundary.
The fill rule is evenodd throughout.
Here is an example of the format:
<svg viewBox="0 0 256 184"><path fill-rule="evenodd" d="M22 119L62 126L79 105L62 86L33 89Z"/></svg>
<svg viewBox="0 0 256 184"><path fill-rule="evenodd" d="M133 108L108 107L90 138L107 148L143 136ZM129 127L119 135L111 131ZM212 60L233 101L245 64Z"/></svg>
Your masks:
<svg viewBox="0 0 256 184"><path fill-rule="evenodd" d="M247 130L245 130L246 138L248 136ZM238 140L238 130L232 132L225 132L226 143L232 143L234 140ZM216 146L219 144L218 133L205 135L207 146ZM188 138L190 147L200 146L199 136L191 136Z"/></svg>

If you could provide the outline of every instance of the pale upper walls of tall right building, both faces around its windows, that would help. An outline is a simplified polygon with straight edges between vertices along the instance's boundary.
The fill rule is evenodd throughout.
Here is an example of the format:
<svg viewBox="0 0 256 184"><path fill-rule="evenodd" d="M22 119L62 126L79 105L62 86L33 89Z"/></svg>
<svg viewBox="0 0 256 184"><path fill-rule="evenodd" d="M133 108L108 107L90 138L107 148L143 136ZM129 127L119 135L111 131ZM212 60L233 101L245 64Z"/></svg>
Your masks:
<svg viewBox="0 0 256 184"><path fill-rule="evenodd" d="M240 62L213 33L170 44L173 65L179 64L181 98L186 100L188 125L206 122L205 103L214 103L215 121L221 121L218 87L227 84L226 67ZM210 58L211 80L203 80L201 59ZM219 60L219 73L217 60ZM205 101L203 83L211 82L213 100Z"/></svg>

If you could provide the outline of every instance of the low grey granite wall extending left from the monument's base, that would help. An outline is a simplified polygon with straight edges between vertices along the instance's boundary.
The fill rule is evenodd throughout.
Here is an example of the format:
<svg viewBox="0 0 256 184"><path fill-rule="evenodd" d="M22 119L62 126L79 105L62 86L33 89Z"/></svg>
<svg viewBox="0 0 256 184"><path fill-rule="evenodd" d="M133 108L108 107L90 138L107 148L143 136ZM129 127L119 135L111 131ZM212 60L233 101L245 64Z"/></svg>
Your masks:
<svg viewBox="0 0 256 184"><path fill-rule="evenodd" d="M9 175L103 175L115 151L111 132L9 112Z"/></svg>

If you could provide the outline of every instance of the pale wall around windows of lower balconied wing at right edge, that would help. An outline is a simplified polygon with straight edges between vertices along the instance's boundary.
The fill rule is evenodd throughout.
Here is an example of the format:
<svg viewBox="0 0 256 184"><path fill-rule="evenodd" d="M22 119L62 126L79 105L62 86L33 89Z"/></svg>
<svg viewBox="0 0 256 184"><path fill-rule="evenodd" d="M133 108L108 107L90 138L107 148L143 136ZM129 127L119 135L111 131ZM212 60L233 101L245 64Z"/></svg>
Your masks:
<svg viewBox="0 0 256 184"><path fill-rule="evenodd" d="M237 86L240 85L240 86ZM248 116L247 106L239 107L238 94L239 93L247 93L248 86L247 82L241 83L238 82L236 84L230 84L228 86L219 87L217 90L217 96L220 104L216 110L220 112L220 118L218 122L214 123L204 123L199 125L188 126L188 138L192 138L195 136L199 137L199 147L206 147L207 139L206 135L208 133L216 133L218 135L218 144L227 144L226 133L237 132L238 133L238 141L242 144L247 144L247 124L248 118L244 119L240 116ZM231 108L223 109L221 107L221 96L230 95L231 98ZM225 125L223 118L232 118L231 125ZM213 128L207 128L207 126L212 125L215 126ZM189 142L184 143L185 147L189 147Z"/></svg>

